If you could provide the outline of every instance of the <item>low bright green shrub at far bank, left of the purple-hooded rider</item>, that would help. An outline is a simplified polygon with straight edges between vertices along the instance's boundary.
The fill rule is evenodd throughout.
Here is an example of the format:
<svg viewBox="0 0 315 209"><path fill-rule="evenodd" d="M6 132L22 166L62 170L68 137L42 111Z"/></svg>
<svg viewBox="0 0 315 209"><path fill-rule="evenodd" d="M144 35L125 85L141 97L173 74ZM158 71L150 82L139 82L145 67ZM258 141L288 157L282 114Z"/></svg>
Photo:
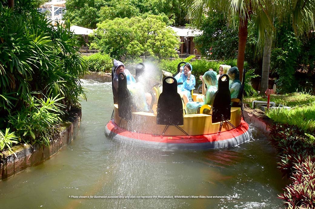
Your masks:
<svg viewBox="0 0 315 209"><path fill-rule="evenodd" d="M107 54L95 53L90 56L83 56L87 68L93 72L112 72L113 61Z"/></svg>

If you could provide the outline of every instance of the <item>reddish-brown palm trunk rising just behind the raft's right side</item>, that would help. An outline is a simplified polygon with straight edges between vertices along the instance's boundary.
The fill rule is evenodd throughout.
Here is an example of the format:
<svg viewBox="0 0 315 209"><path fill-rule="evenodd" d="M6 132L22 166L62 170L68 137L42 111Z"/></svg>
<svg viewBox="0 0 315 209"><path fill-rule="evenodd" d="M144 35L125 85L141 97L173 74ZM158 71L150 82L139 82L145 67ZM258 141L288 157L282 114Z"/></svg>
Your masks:
<svg viewBox="0 0 315 209"><path fill-rule="evenodd" d="M244 59L245 59L245 47L247 40L247 25L248 25L248 17L243 20L241 17L239 18L239 26L238 26L238 53L237 53L237 67L239 70L239 79L242 80L243 77L243 68L244 68Z"/></svg>

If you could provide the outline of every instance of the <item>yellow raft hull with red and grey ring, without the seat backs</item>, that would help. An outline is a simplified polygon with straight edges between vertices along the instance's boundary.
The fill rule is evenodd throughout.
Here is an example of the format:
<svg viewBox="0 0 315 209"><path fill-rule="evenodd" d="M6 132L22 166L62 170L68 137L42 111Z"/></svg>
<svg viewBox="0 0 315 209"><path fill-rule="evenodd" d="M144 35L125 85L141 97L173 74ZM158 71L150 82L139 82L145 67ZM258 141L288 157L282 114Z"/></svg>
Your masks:
<svg viewBox="0 0 315 209"><path fill-rule="evenodd" d="M157 124L157 115L154 113L136 112L132 113L131 120L121 118L118 115L118 106L115 104L113 119L107 123L105 133L114 140L145 147L163 149L227 148L237 146L250 139L249 125L241 118L240 111L239 107L231 108L231 119L228 121L229 123L222 123L220 132L221 122L212 123L211 115L184 115L184 125L167 127Z"/></svg>

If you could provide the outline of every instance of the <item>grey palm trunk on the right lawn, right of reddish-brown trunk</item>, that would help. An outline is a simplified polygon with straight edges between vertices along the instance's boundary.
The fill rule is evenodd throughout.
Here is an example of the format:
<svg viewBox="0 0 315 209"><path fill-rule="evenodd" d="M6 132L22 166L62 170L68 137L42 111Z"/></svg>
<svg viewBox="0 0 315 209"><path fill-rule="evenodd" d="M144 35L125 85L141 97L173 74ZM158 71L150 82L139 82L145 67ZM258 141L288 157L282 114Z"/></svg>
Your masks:
<svg viewBox="0 0 315 209"><path fill-rule="evenodd" d="M270 56L271 56L271 46L272 37L266 33L265 35L264 52L262 57L262 72L261 72L261 84L260 93L263 94L268 88L269 80L269 69L270 69Z"/></svg>

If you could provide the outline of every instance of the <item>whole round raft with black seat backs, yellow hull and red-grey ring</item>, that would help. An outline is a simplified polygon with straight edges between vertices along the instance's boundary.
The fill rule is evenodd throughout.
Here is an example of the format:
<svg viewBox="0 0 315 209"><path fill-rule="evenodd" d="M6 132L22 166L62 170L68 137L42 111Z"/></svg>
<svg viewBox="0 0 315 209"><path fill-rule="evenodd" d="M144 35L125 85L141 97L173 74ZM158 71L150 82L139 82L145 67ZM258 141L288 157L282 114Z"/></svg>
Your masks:
<svg viewBox="0 0 315 209"><path fill-rule="evenodd" d="M173 82L167 82L169 79ZM135 112L126 75L120 73L117 92L113 88L112 119L107 123L105 133L117 141L165 149L237 146L251 136L249 125L242 118L243 86L244 81L238 101L234 101L229 90L229 77L223 74L218 79L218 90L211 106L204 104L199 114L184 114L177 81L169 76L163 79L163 91L154 103L153 113Z"/></svg>

